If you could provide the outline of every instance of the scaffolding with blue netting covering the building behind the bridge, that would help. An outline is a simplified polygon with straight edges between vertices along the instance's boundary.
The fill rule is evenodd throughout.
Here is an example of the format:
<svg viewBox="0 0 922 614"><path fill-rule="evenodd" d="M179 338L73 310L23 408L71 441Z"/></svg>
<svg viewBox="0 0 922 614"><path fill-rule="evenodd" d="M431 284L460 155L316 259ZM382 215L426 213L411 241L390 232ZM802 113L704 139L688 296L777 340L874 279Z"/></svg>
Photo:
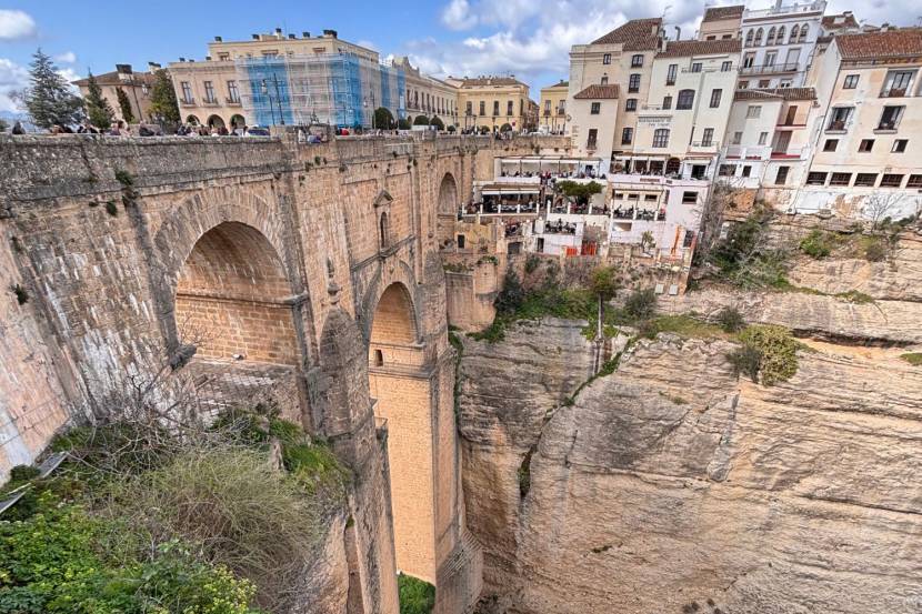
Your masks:
<svg viewBox="0 0 922 614"><path fill-rule="evenodd" d="M354 53L268 56L235 61L247 117L258 125L371 128L384 107L405 118L405 76Z"/></svg>

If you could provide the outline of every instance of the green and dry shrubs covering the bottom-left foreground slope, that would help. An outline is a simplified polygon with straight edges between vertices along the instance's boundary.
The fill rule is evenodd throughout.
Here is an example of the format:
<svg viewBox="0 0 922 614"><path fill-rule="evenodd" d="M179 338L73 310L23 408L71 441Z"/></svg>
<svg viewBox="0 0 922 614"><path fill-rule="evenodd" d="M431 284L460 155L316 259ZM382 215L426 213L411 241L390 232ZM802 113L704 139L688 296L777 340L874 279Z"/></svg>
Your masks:
<svg viewBox="0 0 922 614"><path fill-rule="evenodd" d="M257 614L284 611L349 472L274 412L211 427L114 421L56 440L47 479L0 522L0 612Z"/></svg>

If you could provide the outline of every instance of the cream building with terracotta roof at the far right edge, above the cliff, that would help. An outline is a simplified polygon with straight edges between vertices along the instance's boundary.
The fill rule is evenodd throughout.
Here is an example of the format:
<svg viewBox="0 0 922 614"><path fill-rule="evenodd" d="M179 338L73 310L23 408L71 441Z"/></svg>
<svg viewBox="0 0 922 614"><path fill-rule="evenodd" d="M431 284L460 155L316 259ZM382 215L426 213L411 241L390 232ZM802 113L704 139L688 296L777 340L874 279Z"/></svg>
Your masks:
<svg viewBox="0 0 922 614"><path fill-rule="evenodd" d="M922 209L922 29L833 37L818 63L823 113L791 208L893 219Z"/></svg>

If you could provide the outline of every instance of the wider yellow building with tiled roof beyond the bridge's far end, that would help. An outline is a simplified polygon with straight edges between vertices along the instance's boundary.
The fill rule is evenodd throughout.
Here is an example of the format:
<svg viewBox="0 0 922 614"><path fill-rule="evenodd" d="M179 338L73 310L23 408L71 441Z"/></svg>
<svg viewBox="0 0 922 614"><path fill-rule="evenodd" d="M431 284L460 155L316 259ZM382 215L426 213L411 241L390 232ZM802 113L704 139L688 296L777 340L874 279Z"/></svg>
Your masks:
<svg viewBox="0 0 922 614"><path fill-rule="evenodd" d="M449 77L445 82L458 88L462 130L493 132L509 124L520 131L528 123L529 87L514 77Z"/></svg>

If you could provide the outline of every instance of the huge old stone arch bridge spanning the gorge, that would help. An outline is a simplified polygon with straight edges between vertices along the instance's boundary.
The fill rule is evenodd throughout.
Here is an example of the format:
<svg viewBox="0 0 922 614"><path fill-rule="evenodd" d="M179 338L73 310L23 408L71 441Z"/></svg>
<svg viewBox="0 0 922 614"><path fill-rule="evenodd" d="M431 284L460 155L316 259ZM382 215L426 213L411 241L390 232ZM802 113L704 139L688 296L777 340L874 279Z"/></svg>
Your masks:
<svg viewBox="0 0 922 614"><path fill-rule="evenodd" d="M350 613L395 613L398 570L437 585L439 612L463 612L480 555L463 521L439 220L494 157L565 147L0 140L0 470L182 365L170 378L202 411L271 400L353 469Z"/></svg>

